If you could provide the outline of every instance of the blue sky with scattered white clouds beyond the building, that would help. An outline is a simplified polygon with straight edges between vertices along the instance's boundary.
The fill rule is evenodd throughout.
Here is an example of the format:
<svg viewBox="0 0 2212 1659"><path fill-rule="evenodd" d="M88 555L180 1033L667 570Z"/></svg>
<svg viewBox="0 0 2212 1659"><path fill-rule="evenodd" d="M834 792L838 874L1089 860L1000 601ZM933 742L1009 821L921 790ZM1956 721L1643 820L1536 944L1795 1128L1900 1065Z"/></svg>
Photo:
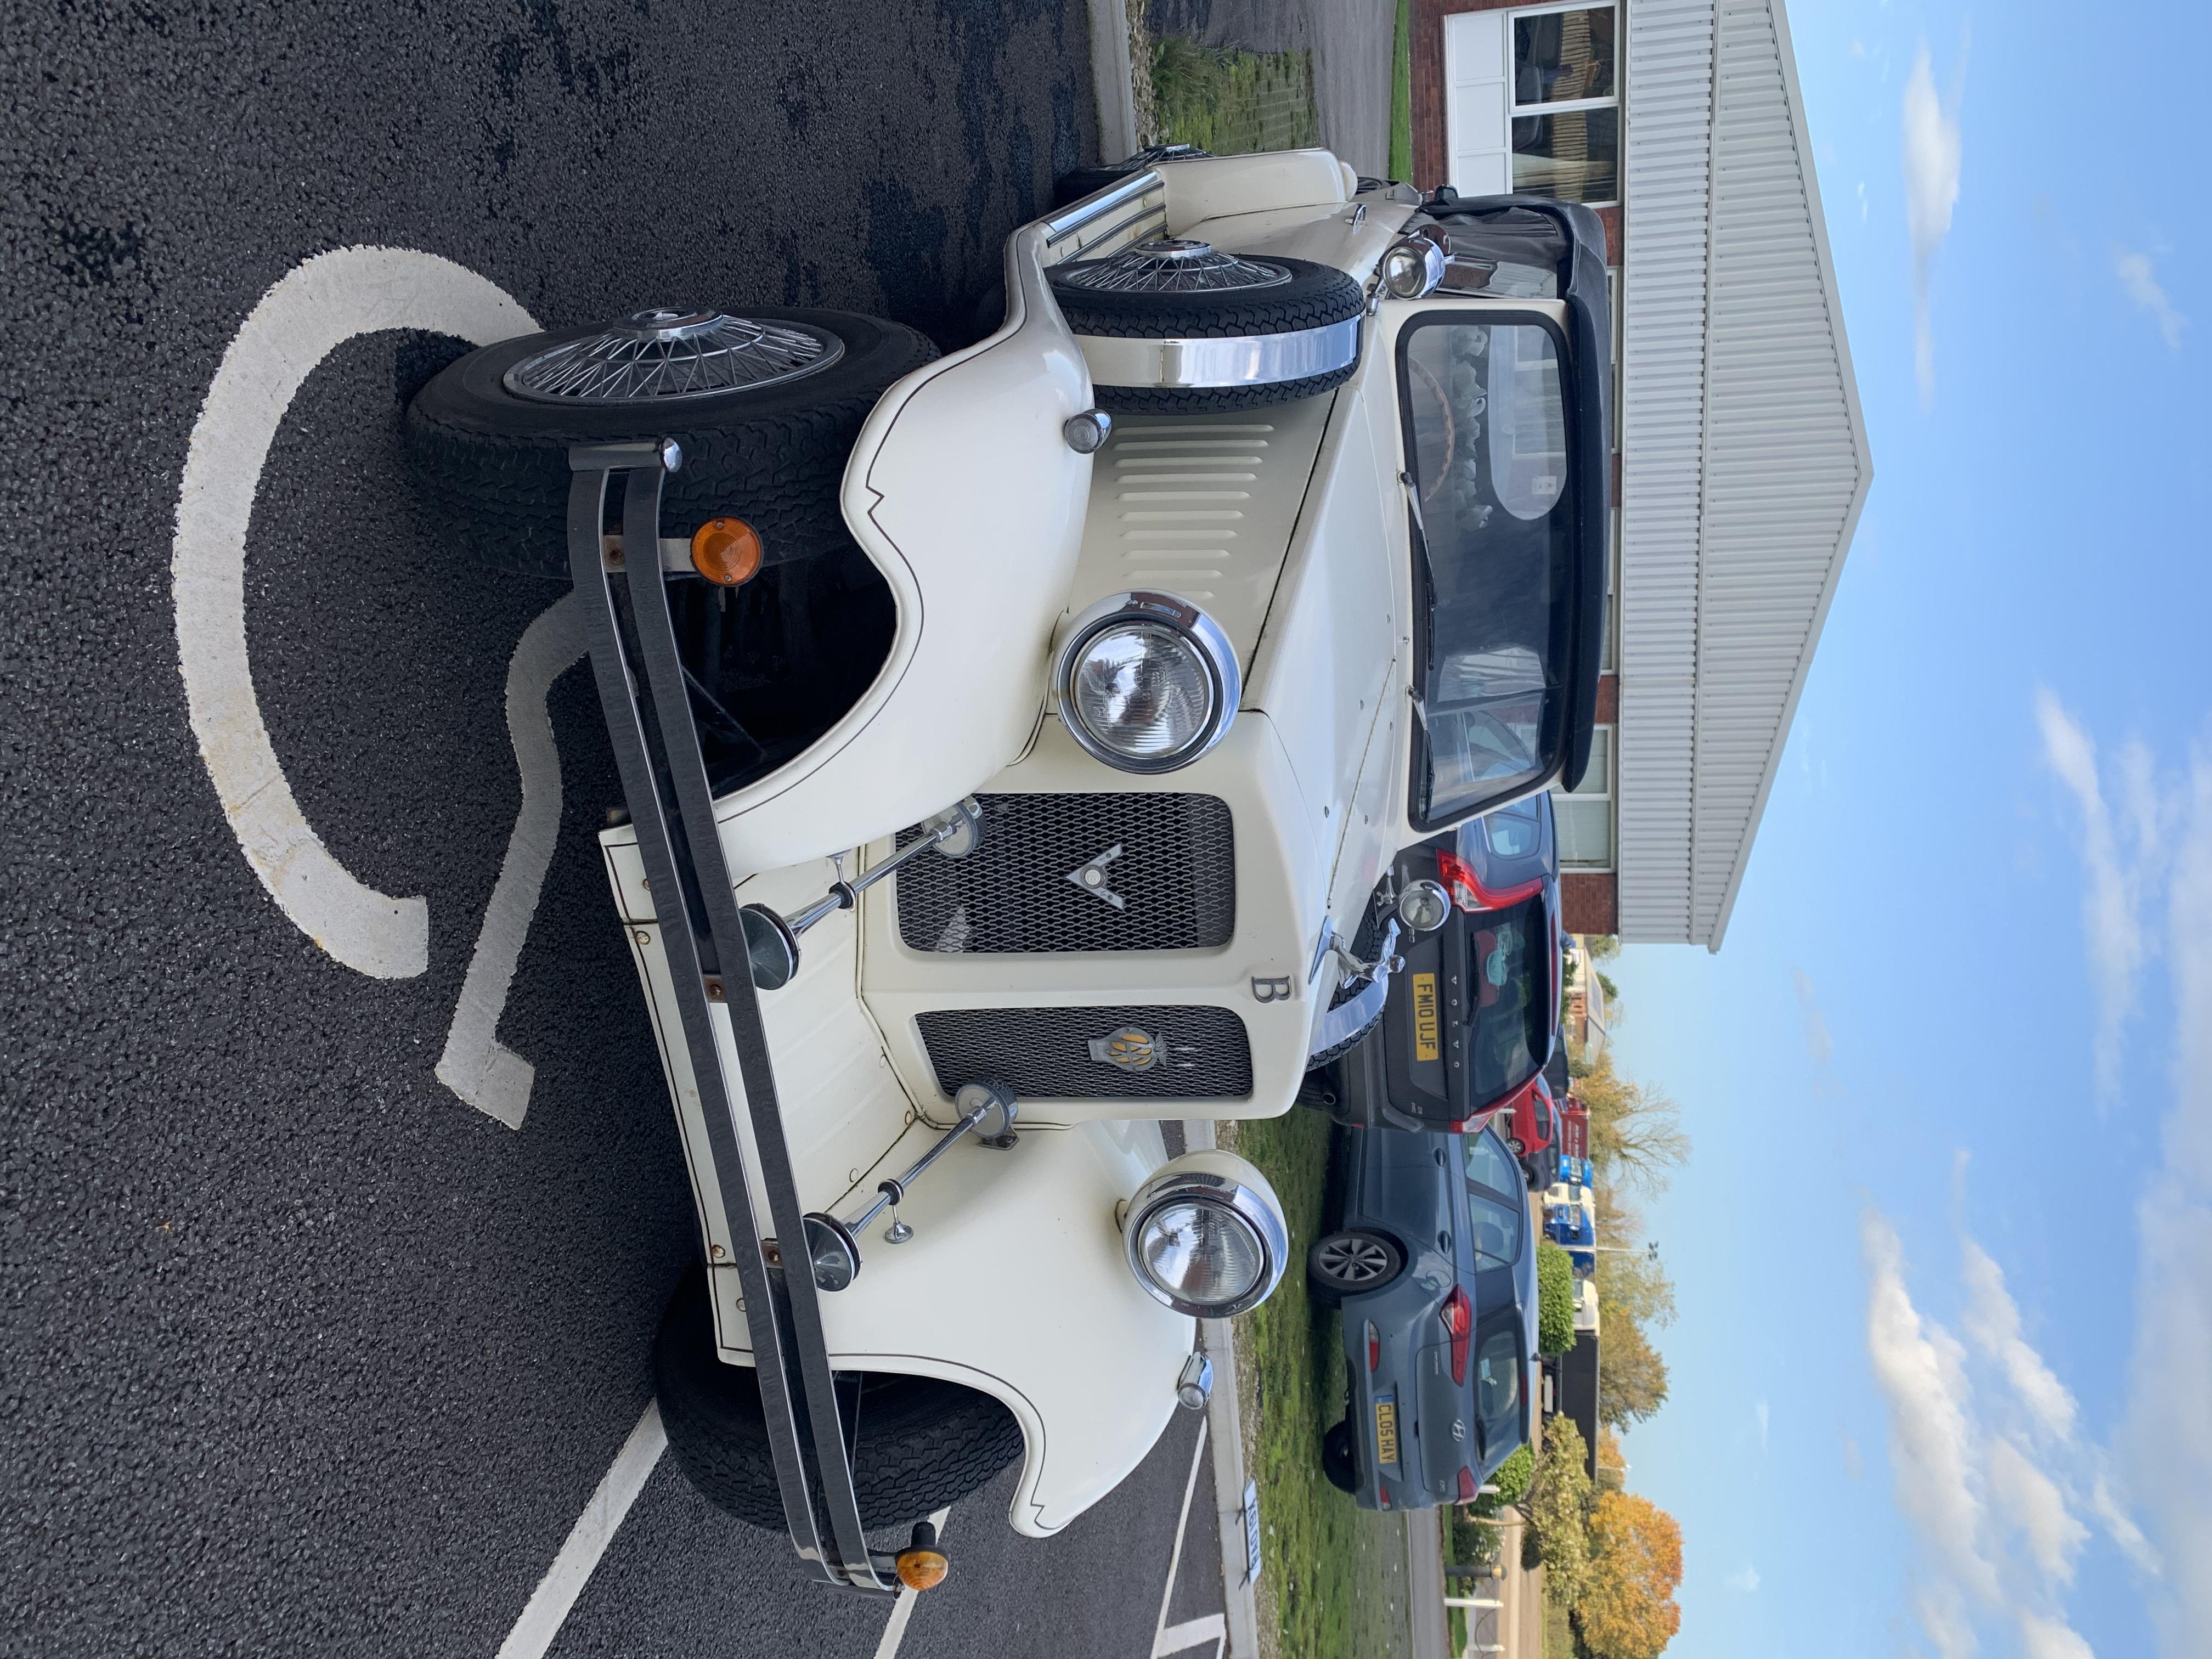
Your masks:
<svg viewBox="0 0 2212 1659"><path fill-rule="evenodd" d="M1876 480L1725 947L1615 973L1630 1484L1674 1652L2208 1655L2212 24L1790 18Z"/></svg>

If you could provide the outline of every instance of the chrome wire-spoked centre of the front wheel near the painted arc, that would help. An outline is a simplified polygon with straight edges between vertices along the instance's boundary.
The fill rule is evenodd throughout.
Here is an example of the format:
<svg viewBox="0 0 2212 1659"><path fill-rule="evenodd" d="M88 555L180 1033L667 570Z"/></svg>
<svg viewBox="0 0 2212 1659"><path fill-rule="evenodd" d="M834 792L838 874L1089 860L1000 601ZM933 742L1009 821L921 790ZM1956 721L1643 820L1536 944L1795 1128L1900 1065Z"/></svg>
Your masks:
<svg viewBox="0 0 2212 1659"><path fill-rule="evenodd" d="M783 385L841 356L845 343L812 323L650 310L526 356L500 378L538 403L672 403Z"/></svg>

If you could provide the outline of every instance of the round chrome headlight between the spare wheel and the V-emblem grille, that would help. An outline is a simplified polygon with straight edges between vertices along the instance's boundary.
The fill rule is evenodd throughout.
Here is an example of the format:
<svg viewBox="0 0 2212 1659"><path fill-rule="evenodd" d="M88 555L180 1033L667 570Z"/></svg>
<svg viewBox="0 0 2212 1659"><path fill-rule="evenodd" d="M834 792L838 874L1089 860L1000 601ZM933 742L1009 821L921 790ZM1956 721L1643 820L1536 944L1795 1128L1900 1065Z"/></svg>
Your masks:
<svg viewBox="0 0 2212 1659"><path fill-rule="evenodd" d="M1084 611L1053 672L1060 719L1121 772L1172 772L1237 719L1243 677L1221 626L1170 593L1117 593Z"/></svg>

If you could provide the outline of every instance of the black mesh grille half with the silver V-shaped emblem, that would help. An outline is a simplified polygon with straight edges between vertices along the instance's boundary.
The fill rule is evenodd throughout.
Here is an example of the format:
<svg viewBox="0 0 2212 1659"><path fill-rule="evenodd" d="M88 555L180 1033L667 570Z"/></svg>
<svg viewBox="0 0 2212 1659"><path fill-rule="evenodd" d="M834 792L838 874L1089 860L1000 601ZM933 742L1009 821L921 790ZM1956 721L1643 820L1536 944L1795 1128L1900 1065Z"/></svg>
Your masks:
<svg viewBox="0 0 2212 1659"><path fill-rule="evenodd" d="M987 794L982 845L898 872L916 951L1181 951L1237 931L1230 807L1212 794ZM898 845L918 830L902 830ZM1093 860L1104 880L1068 876ZM1121 902L1115 905L1113 898Z"/></svg>

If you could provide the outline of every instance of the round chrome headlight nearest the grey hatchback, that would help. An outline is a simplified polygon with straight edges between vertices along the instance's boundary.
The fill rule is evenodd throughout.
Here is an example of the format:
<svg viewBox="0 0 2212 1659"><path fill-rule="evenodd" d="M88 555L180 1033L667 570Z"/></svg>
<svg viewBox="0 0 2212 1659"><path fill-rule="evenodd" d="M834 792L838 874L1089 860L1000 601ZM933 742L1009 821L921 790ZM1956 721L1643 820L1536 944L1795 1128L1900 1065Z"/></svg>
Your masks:
<svg viewBox="0 0 2212 1659"><path fill-rule="evenodd" d="M1152 1175L1121 1241L1146 1294L1194 1318L1259 1307L1290 1254L1274 1188L1234 1152L1188 1152Z"/></svg>

